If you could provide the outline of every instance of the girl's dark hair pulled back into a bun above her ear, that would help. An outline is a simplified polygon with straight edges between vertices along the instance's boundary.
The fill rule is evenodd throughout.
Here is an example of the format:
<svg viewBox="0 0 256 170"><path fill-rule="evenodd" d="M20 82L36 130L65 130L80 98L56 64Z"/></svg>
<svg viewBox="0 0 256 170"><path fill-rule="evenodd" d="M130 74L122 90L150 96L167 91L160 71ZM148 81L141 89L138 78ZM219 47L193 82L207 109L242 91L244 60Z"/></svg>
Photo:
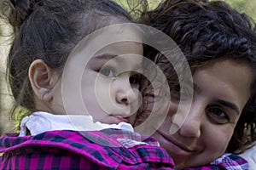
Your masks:
<svg viewBox="0 0 256 170"><path fill-rule="evenodd" d="M3 0L1 17L13 26L7 73L15 99L11 115L35 111L28 69L43 59L61 69L75 45L110 20L131 22L125 9L110 0ZM20 110L19 107L26 110Z"/></svg>

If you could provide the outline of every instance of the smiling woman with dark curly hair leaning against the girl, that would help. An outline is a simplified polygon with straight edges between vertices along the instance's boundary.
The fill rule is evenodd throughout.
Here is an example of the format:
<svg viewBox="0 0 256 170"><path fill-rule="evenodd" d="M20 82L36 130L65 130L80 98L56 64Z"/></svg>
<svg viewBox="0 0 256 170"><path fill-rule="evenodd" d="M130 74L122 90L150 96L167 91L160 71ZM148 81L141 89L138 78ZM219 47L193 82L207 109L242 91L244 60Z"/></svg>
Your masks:
<svg viewBox="0 0 256 170"><path fill-rule="evenodd" d="M175 167L248 169L245 160L228 153L245 150L244 146L256 139L253 21L224 2L207 0L166 0L158 8L146 11L142 21L177 42L193 73L193 87L186 81L180 85L177 76L183 75L173 74L165 57L155 58L157 52L146 51L157 60L169 80L168 116L154 137L172 156ZM186 93L189 91L193 93ZM178 105L182 96L184 105ZM190 98L191 103L186 103ZM190 105L189 112L177 112L178 106L185 105ZM171 133L170 127L175 126L176 131Z"/></svg>

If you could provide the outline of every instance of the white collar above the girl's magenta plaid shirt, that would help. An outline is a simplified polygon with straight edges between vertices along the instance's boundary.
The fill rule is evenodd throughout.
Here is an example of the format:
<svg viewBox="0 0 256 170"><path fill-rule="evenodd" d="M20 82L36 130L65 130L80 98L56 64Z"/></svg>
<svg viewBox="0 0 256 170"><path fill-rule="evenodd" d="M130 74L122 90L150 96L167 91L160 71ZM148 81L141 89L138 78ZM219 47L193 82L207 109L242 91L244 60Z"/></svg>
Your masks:
<svg viewBox="0 0 256 170"><path fill-rule="evenodd" d="M98 131L104 128L118 128L134 132L131 124L105 124L93 122L92 116L84 115L53 115L44 111L37 111L31 116L25 116L20 122L20 136L26 136L26 127L32 135L52 130Z"/></svg>

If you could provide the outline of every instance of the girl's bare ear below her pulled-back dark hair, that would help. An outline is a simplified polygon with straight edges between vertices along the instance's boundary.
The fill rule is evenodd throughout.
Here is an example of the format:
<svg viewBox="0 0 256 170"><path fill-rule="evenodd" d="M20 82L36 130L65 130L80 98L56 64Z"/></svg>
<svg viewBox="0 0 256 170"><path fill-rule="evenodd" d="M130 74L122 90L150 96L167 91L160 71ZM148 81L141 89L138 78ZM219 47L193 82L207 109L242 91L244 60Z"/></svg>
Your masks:
<svg viewBox="0 0 256 170"><path fill-rule="evenodd" d="M28 77L34 94L38 99L50 102L53 99L52 88L54 86L51 69L42 59L36 59L29 67Z"/></svg>

